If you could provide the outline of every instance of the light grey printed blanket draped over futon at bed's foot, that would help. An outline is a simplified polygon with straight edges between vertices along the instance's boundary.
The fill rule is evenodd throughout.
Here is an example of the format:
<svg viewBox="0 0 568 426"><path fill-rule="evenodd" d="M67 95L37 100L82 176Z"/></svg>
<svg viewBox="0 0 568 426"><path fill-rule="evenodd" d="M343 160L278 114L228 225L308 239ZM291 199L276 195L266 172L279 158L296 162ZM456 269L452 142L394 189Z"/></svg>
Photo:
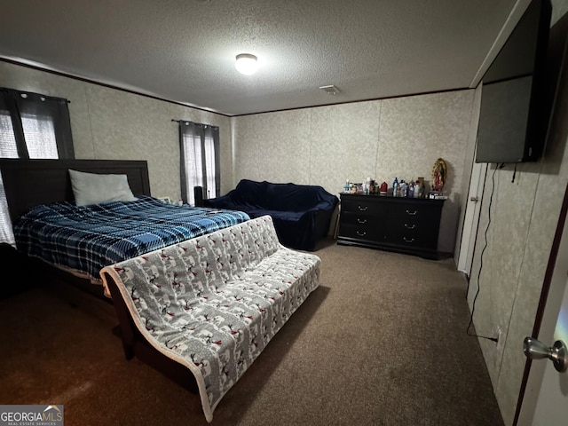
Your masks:
<svg viewBox="0 0 568 426"><path fill-rule="evenodd" d="M285 248L270 216L106 266L138 330L189 368L208 422L225 393L319 285L320 260Z"/></svg>

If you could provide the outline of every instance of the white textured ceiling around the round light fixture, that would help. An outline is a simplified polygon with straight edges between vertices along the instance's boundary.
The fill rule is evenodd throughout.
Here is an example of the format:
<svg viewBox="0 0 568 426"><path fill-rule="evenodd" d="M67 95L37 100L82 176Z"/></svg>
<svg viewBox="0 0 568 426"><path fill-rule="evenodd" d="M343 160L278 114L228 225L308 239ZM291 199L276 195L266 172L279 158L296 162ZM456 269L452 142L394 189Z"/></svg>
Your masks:
<svg viewBox="0 0 568 426"><path fill-rule="evenodd" d="M2 3L4 59L240 115L471 87L528 0Z"/></svg>

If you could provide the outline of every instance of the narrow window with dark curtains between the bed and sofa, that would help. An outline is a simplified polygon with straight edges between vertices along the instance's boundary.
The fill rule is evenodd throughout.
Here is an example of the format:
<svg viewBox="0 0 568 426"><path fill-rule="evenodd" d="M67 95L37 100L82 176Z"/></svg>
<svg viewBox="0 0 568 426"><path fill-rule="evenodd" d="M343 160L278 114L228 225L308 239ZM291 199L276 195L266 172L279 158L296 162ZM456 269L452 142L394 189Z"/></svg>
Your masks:
<svg viewBox="0 0 568 426"><path fill-rule="evenodd" d="M182 200L195 204L193 187L207 198L219 193L219 128L197 122L179 122Z"/></svg>

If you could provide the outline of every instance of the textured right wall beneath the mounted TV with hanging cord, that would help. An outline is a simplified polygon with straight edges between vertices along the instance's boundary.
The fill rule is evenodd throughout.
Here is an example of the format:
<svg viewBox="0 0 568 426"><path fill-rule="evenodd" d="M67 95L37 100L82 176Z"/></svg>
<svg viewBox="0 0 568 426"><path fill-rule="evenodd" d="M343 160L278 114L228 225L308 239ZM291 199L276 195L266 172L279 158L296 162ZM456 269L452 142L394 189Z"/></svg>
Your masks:
<svg viewBox="0 0 568 426"><path fill-rule="evenodd" d="M560 25L562 19L566 28L567 10L566 0L553 2L553 25L556 22ZM551 35L560 37L558 40L564 46L565 29L556 28L558 26ZM566 122L568 78L564 70L547 147L540 162L519 164L516 173L514 166L496 170L493 164L485 178L468 300L473 309L479 289L474 317L477 334L499 336L498 343L486 339L479 339L479 343L507 425L514 419L526 360L523 340L533 332L548 256L568 183Z"/></svg>

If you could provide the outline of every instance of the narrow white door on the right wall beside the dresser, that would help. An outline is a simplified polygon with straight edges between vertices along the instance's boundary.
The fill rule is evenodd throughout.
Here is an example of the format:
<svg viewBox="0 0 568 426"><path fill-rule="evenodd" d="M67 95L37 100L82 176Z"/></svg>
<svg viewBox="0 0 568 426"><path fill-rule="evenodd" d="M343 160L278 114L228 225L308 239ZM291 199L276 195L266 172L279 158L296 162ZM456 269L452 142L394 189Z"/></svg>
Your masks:
<svg viewBox="0 0 568 426"><path fill-rule="evenodd" d="M461 233L460 256L458 257L457 265L458 271L464 272L468 277L471 273L473 252L476 247L477 225L479 224L486 172L487 163L473 163L465 217L463 219L463 231Z"/></svg>

